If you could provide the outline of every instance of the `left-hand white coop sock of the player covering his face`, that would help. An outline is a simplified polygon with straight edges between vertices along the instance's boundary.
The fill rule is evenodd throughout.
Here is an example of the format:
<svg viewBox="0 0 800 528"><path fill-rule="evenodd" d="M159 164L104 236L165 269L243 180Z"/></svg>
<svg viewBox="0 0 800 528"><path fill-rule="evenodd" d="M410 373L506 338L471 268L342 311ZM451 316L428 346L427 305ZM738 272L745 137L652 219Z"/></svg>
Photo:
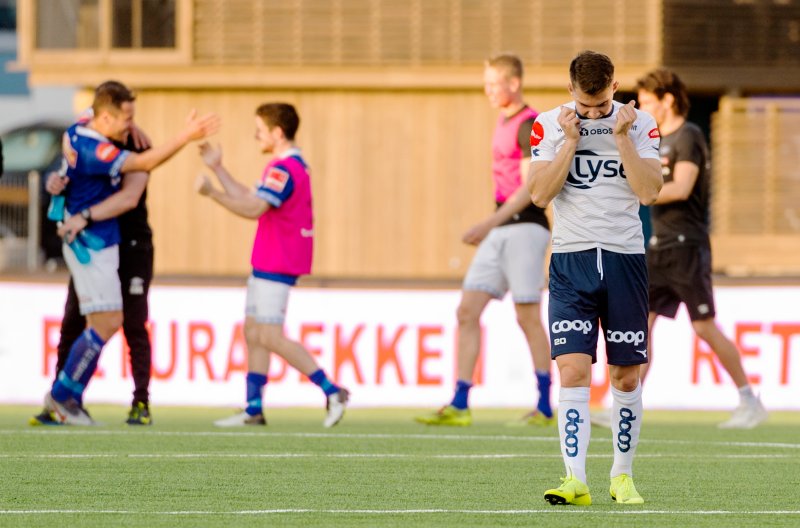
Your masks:
<svg viewBox="0 0 800 528"><path fill-rule="evenodd" d="M592 423L589 421L589 387L561 387L558 394L558 434L567 476L586 482L586 450Z"/></svg>

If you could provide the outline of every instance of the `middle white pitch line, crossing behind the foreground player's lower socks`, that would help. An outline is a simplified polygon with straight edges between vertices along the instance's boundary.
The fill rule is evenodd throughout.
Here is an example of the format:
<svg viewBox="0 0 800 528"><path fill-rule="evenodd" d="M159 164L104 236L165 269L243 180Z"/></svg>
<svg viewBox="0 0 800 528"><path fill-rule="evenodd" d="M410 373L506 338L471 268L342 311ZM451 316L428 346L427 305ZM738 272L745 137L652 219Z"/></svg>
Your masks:
<svg viewBox="0 0 800 528"><path fill-rule="evenodd" d="M612 454L591 454L587 458L612 458ZM190 459L190 458L243 458L243 459L290 459L290 458L360 458L366 460L385 459L430 459L430 460L502 460L502 459L561 459L561 455L540 453L493 453L493 454L452 454L416 455L407 453L0 453L0 459L94 459L94 458L138 458L138 459ZM794 455L696 455L639 453L636 458L680 458L680 459L794 459Z"/></svg>

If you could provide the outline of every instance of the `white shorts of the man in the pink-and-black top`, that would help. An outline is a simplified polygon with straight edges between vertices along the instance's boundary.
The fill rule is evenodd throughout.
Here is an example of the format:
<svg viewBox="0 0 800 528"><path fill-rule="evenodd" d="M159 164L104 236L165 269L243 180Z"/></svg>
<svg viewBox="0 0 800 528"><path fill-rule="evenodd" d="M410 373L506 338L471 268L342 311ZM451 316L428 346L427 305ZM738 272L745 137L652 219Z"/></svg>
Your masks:
<svg viewBox="0 0 800 528"><path fill-rule="evenodd" d="M550 231L539 224L495 227L478 246L463 289L486 292L496 299L511 290L517 304L540 302L549 242Z"/></svg>

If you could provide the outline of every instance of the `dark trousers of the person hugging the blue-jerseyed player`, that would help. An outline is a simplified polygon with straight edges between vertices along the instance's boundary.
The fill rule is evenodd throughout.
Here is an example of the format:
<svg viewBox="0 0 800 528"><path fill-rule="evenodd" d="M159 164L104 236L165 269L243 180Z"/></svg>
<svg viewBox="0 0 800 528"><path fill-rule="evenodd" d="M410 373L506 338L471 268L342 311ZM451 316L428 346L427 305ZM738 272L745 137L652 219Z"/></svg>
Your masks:
<svg viewBox="0 0 800 528"><path fill-rule="evenodd" d="M146 324L150 315L147 296L150 293L150 282L153 280L152 244L136 241L125 241L120 244L119 279L122 284L122 331L131 350L133 403L148 404L152 348ZM86 318L81 315L78 296L70 278L67 302L64 305L64 319L61 321L56 373L64 368L72 343L85 329Z"/></svg>

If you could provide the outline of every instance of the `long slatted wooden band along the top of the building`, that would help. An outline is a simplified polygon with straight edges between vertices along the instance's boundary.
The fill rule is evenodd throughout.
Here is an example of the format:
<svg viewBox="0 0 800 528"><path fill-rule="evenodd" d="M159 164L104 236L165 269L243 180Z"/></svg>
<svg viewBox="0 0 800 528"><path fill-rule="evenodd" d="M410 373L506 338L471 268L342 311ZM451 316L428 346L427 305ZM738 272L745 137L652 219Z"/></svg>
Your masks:
<svg viewBox="0 0 800 528"><path fill-rule="evenodd" d="M195 0L194 63L455 66L513 50L533 66L576 51L660 60L659 0Z"/></svg>

